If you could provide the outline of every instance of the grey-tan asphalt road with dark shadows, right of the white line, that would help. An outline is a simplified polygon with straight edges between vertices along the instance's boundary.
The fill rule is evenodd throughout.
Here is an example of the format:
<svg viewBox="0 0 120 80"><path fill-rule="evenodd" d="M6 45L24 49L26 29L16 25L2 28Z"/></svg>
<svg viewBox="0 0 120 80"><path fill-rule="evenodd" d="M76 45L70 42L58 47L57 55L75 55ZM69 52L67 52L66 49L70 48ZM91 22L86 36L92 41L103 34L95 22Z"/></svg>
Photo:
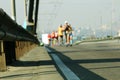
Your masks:
<svg viewBox="0 0 120 80"><path fill-rule="evenodd" d="M49 49L49 54L57 55L80 80L120 80L118 40L86 42L72 47L54 46ZM59 67L58 70L66 78Z"/></svg>

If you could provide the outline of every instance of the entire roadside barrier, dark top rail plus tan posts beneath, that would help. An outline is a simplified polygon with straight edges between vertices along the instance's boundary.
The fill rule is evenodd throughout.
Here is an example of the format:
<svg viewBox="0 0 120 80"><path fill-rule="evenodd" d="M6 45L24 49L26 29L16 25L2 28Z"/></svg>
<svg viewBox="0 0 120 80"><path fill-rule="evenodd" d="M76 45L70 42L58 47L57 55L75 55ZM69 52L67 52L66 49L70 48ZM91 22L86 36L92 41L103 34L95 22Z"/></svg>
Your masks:
<svg viewBox="0 0 120 80"><path fill-rule="evenodd" d="M0 9L0 71L39 44L38 39Z"/></svg>

